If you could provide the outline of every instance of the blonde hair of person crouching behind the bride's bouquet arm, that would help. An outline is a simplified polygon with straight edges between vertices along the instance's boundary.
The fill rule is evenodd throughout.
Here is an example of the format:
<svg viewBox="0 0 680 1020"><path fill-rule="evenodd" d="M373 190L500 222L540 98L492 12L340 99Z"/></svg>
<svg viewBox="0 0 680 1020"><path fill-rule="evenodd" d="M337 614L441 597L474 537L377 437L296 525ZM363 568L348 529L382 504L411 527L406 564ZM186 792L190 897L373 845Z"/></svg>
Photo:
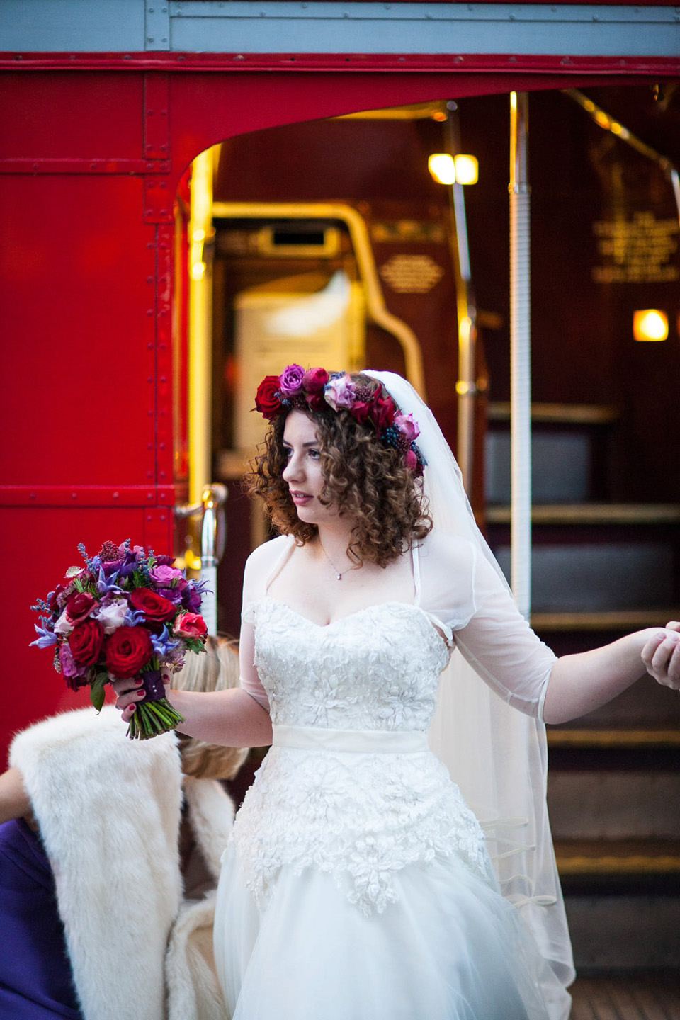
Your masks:
<svg viewBox="0 0 680 1020"><path fill-rule="evenodd" d="M239 644L208 635L205 652L188 652L172 677L175 691L226 691L239 686ZM247 748L223 748L195 736L180 736L181 770L195 779L231 779L248 755Z"/></svg>

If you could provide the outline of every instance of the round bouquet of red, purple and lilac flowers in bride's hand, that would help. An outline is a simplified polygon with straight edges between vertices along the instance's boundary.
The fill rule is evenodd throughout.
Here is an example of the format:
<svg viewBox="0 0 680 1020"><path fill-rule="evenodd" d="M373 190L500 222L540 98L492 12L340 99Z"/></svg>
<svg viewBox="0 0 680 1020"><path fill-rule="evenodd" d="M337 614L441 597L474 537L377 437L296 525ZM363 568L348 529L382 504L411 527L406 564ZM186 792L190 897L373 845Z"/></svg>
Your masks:
<svg viewBox="0 0 680 1020"><path fill-rule="evenodd" d="M141 546L105 542L96 556L79 546L84 567L70 567L47 599L39 599L39 648L54 648L54 668L72 691L90 686L99 711L104 685L141 677L146 697L138 703L127 735L146 740L174 729L184 716L165 697L163 671L181 669L185 654L204 651L204 581L187 580L169 556Z"/></svg>

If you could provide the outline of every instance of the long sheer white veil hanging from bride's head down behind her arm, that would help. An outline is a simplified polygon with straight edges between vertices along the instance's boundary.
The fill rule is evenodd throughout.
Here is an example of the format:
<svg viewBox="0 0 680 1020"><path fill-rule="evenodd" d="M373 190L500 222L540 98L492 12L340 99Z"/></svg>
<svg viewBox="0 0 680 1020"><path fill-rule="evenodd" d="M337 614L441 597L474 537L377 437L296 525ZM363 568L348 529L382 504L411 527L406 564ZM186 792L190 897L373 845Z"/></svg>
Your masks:
<svg viewBox="0 0 680 1020"><path fill-rule="evenodd" d="M425 495L434 527L473 543L508 588L477 527L460 469L434 415L401 375L366 374L382 382L402 412L412 413L420 426L417 442L427 463ZM429 745L482 824L502 892L524 917L556 977L569 984L574 968L545 803L544 724L506 704L454 651L439 681ZM566 1020L566 992L556 994L546 987L544 994L553 1020Z"/></svg>

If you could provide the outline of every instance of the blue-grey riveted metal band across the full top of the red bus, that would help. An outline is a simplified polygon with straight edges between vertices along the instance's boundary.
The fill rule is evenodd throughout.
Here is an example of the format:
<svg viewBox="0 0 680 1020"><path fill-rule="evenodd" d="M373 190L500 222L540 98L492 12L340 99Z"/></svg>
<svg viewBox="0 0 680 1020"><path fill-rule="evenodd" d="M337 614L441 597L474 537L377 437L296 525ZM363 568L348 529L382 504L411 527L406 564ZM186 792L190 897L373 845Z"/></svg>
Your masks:
<svg viewBox="0 0 680 1020"><path fill-rule="evenodd" d="M672 56L671 5L336 0L3 0L0 48L25 52L524 53Z"/></svg>

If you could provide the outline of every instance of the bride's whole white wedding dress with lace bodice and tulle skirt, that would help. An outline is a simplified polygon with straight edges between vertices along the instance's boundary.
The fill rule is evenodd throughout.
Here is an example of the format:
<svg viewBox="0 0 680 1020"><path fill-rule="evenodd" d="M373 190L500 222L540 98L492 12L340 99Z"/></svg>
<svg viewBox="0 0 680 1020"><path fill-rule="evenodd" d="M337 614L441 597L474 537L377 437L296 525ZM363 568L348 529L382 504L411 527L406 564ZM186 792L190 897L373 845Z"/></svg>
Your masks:
<svg viewBox="0 0 680 1020"><path fill-rule="evenodd" d="M218 888L215 959L232 1020L545 1020L538 988L557 979L427 749L452 631L477 660L483 607L463 600L444 613L428 603L428 564L441 563L426 541L414 555L413 604L319 626L267 594L294 550L287 538L267 543L246 577L264 688L251 693L268 700L274 735ZM456 555L449 566L471 591L474 551L461 544ZM544 676L553 654L518 627L531 635L519 645L536 660L534 677ZM505 636L517 664L517 634ZM492 665L487 679L502 683Z"/></svg>

